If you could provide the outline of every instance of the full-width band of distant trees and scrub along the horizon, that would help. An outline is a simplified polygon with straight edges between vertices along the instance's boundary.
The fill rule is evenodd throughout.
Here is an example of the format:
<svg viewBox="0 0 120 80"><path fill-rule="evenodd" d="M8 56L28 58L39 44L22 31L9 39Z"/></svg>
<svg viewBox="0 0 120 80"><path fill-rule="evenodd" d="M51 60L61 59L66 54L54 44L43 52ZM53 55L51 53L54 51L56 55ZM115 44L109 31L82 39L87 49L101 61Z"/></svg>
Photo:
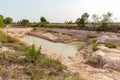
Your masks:
<svg viewBox="0 0 120 80"><path fill-rule="evenodd" d="M4 18L0 15L0 27L5 27L5 24L12 24L13 26L31 26L31 27L73 27L80 29L89 29L96 30L96 28L100 30L104 30L104 28L110 28L110 30L117 30L120 26L119 23L115 23L112 19L112 13L108 12L101 16L97 14L91 15L92 21L89 21L90 14L85 12L81 15L81 17L77 18L76 21L65 21L65 23L50 23L44 16L40 17L40 21L38 22L30 22L28 19L22 19L18 22L14 22L11 17ZM78 29L77 28L77 29ZM92 29L91 29L92 28ZM95 28L95 29L94 29Z"/></svg>

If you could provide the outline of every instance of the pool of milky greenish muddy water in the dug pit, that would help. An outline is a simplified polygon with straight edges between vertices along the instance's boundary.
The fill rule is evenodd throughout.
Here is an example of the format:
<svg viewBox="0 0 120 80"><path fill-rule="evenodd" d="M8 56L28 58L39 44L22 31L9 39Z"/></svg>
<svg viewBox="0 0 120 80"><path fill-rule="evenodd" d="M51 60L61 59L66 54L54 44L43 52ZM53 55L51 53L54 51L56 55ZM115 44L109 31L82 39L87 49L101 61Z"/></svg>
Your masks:
<svg viewBox="0 0 120 80"><path fill-rule="evenodd" d="M22 38L23 41L26 41L31 44L35 44L36 46L41 46L42 48L49 50L51 52L55 52L62 56L75 56L78 52L78 46L81 47L83 44L64 44L64 43L54 43L42 38L38 38L35 36L26 35Z"/></svg>

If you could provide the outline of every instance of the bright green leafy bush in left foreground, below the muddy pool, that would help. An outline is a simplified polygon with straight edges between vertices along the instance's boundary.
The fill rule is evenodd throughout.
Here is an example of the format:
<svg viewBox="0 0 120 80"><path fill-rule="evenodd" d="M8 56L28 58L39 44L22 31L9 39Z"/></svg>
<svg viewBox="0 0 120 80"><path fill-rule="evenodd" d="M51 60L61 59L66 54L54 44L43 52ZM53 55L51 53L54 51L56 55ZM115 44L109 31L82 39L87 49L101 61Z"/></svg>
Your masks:
<svg viewBox="0 0 120 80"><path fill-rule="evenodd" d="M31 59L37 59L41 55L41 47L36 51L35 45L31 45L30 48L28 48L26 55Z"/></svg>

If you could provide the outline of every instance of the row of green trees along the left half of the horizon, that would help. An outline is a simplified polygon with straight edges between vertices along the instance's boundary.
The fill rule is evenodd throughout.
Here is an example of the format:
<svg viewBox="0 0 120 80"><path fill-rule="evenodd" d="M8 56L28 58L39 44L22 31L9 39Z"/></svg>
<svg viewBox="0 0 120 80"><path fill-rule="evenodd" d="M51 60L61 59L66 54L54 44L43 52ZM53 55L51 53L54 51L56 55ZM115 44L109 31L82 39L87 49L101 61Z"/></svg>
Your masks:
<svg viewBox="0 0 120 80"><path fill-rule="evenodd" d="M15 24L17 26L37 26L37 25L45 25L45 24L48 24L49 22L47 21L47 19L45 17L41 17L40 18L40 22L36 23L36 22L33 22L31 23L28 19L22 19L18 22L13 22L13 18L11 17L6 17L4 18L3 15L0 15L0 28L4 28L5 25L8 25L8 24Z"/></svg>

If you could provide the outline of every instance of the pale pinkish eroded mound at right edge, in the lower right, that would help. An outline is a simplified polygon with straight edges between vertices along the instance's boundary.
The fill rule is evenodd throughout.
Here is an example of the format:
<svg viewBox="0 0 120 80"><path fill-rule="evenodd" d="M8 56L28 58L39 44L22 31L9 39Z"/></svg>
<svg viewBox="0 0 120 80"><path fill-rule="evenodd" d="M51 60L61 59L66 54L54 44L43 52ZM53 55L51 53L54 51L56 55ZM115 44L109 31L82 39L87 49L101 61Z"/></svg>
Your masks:
<svg viewBox="0 0 120 80"><path fill-rule="evenodd" d="M99 50L92 53L89 61L103 68L120 71L120 50L99 46Z"/></svg>

